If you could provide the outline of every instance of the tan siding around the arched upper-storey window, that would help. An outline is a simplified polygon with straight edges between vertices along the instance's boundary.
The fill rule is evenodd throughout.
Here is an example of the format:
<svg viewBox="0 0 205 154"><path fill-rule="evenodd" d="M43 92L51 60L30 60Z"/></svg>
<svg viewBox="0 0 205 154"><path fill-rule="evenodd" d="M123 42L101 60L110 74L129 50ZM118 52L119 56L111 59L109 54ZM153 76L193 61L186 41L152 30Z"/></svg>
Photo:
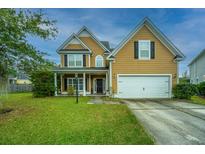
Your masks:
<svg viewBox="0 0 205 154"><path fill-rule="evenodd" d="M90 66L95 67L95 57L97 55L101 55L104 58L104 65L105 65L105 56L104 56L104 50L101 46L97 44L95 40L93 40L91 37L80 37L80 39L85 43L91 50L92 55L90 56Z"/></svg>

